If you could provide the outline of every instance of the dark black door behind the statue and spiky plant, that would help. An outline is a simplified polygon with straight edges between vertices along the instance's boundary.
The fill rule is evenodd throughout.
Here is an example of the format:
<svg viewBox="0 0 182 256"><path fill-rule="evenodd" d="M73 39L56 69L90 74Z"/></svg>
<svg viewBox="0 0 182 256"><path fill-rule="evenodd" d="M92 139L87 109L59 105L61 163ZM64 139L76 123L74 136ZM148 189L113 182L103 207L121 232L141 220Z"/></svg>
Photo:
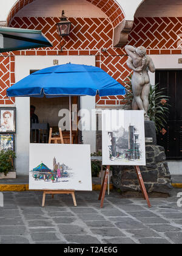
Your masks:
<svg viewBox="0 0 182 256"><path fill-rule="evenodd" d="M182 160L182 70L157 70L155 84L169 96L167 125L157 136L167 160Z"/></svg>

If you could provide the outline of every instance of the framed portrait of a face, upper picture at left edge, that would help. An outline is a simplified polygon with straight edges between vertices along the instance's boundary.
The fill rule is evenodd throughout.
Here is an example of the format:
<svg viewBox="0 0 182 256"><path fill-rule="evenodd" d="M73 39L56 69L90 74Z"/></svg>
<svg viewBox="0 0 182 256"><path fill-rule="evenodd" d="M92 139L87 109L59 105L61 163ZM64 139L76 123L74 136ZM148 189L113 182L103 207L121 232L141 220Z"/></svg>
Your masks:
<svg viewBox="0 0 182 256"><path fill-rule="evenodd" d="M16 108L0 108L0 133L16 132Z"/></svg>

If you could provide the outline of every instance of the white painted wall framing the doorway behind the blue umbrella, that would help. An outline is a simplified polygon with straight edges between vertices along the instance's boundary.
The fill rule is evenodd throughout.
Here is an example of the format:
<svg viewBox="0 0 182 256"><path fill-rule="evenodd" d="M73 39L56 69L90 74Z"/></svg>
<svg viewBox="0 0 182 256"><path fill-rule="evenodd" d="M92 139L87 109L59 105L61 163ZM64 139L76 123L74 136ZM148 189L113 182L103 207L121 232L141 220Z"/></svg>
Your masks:
<svg viewBox="0 0 182 256"><path fill-rule="evenodd" d="M95 56L16 56L15 80L18 82L30 74L30 69L42 69L53 66L53 60L59 60L59 65L75 63L95 66ZM30 143L30 98L16 98L16 172L23 176L29 174L29 143ZM95 97L84 96L81 105L89 111L95 108ZM83 132L84 144L91 145L95 151L96 133Z"/></svg>

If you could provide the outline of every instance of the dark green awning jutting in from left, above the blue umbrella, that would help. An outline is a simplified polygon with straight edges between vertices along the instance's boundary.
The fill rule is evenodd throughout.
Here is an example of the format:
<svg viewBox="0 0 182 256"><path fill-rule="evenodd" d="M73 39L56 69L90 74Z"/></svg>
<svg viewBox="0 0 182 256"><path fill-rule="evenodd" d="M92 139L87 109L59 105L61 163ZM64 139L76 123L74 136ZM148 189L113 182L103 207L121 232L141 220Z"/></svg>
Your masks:
<svg viewBox="0 0 182 256"><path fill-rule="evenodd" d="M0 27L0 52L52 46L41 30Z"/></svg>

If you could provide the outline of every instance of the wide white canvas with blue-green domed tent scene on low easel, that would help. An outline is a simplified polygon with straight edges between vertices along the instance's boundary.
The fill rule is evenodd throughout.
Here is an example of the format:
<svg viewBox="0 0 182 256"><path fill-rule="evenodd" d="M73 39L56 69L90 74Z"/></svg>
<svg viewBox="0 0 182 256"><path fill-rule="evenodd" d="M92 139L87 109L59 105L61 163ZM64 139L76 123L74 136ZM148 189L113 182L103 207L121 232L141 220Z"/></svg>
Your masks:
<svg viewBox="0 0 182 256"><path fill-rule="evenodd" d="M92 191L90 145L30 144L30 190Z"/></svg>

